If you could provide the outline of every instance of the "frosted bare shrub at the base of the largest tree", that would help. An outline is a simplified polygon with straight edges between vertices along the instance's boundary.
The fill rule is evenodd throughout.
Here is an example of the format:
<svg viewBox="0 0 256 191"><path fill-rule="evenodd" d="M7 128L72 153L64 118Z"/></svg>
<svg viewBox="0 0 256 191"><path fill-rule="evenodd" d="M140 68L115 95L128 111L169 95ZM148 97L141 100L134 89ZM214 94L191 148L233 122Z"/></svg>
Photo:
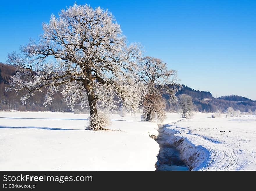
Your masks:
<svg viewBox="0 0 256 191"><path fill-rule="evenodd" d="M104 114L103 112L98 112L97 115L91 115L88 119L88 124L86 126L86 129L89 130L104 130L106 126L109 126L111 124L111 120L109 119L109 116Z"/></svg>

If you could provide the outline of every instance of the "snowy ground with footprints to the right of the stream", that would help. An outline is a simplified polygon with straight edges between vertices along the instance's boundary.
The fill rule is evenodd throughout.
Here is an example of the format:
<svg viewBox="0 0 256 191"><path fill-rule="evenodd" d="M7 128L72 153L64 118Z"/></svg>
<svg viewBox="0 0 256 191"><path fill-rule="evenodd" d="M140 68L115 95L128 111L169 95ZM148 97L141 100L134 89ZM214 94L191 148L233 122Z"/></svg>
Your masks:
<svg viewBox="0 0 256 191"><path fill-rule="evenodd" d="M193 170L256 170L256 116L167 115L164 133ZM173 135L173 136L171 136Z"/></svg>

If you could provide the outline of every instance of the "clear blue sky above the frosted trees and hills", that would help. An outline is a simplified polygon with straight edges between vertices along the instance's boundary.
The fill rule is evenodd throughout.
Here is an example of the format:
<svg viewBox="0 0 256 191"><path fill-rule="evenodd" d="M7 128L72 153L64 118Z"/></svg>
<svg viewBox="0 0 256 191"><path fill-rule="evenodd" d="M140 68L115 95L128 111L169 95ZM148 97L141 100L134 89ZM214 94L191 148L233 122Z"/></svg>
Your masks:
<svg viewBox="0 0 256 191"><path fill-rule="evenodd" d="M76 1L108 8L129 42L141 42L145 56L164 60L180 83L213 96L256 100L256 1ZM42 22L74 1L1 1L0 62Z"/></svg>

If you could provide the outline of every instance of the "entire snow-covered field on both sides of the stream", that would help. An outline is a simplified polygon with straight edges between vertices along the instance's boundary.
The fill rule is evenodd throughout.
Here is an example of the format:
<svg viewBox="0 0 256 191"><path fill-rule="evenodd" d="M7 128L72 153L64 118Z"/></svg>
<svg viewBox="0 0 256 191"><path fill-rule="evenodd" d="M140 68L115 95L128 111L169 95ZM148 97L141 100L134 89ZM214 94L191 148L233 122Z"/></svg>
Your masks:
<svg viewBox="0 0 256 191"><path fill-rule="evenodd" d="M0 170L155 170L157 124L111 118L115 131L85 131L88 115L0 112ZM256 116L168 113L163 124L193 170L256 170Z"/></svg>

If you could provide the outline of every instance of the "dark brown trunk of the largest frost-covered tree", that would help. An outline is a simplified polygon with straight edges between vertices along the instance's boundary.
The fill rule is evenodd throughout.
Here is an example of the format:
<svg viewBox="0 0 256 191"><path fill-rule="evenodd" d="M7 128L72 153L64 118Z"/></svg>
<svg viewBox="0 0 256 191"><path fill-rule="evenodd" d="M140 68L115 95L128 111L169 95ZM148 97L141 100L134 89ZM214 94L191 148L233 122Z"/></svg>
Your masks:
<svg viewBox="0 0 256 191"><path fill-rule="evenodd" d="M98 113L97 113L97 108L96 108L96 99L95 99L95 95L94 92L91 91L93 89L93 86L91 84L91 81L93 80L91 77L91 73L88 72L88 69L86 69L86 73L87 73L87 80L83 80L83 86L86 90L86 94L88 97L88 102L89 102L89 107L90 107L90 116L92 117L93 115L95 117L97 117ZM90 127L92 129L96 129L97 127L95 126L95 124L90 124Z"/></svg>

